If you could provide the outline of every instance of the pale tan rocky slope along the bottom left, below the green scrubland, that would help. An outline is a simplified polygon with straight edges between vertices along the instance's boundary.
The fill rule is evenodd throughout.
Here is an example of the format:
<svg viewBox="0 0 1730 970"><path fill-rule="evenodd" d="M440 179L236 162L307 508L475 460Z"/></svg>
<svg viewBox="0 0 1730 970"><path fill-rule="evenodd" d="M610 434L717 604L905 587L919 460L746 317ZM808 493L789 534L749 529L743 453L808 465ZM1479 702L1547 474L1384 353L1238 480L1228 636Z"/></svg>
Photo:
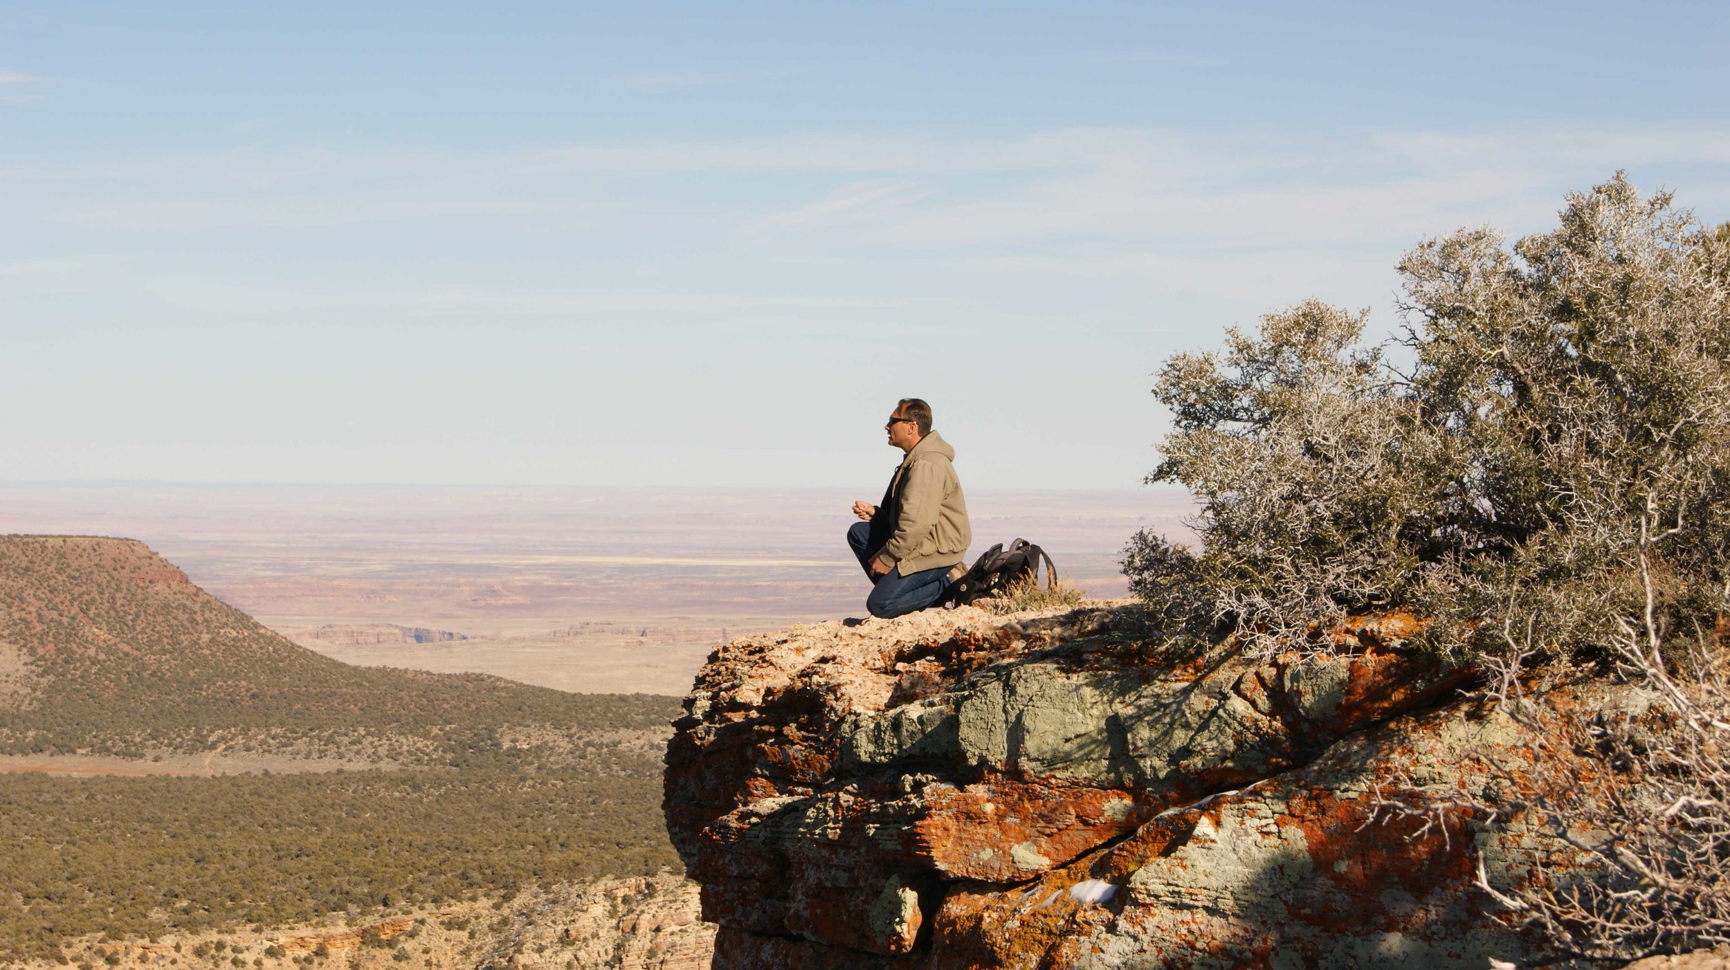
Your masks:
<svg viewBox="0 0 1730 970"><path fill-rule="evenodd" d="M353 916L306 927L111 942L67 941L67 963L119 968L547 968L699 970L714 927L697 918L697 885L676 877L607 878L526 890L509 901ZM54 967L42 961L40 967Z"/></svg>

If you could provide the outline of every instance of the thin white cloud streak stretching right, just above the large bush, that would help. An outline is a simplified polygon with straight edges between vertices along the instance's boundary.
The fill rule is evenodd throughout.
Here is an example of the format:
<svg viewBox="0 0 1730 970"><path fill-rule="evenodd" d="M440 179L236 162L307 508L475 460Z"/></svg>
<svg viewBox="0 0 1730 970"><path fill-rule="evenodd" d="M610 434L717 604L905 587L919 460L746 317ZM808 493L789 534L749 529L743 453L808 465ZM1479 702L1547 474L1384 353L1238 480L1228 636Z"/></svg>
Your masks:
<svg viewBox="0 0 1730 970"><path fill-rule="evenodd" d="M1256 252L1386 249L1486 221L1517 228L1618 168L1694 168L1685 202L1730 190L1730 128L1415 131L1349 144L1080 130L995 150L957 145L950 157L976 152L991 156L976 175L1017 176L990 176L983 190L915 168L841 185L747 228L806 249L1000 259L1010 247L1054 268L1092 256L1138 271L1147 263L1124 252L1213 252L1240 266Z"/></svg>

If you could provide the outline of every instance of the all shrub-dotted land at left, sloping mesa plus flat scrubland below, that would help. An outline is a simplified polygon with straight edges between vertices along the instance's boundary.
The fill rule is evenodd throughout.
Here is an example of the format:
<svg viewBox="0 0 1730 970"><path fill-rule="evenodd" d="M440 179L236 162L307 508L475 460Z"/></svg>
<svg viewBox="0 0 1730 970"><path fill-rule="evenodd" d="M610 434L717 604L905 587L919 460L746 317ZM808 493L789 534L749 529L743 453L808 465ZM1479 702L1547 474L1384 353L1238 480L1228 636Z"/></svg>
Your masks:
<svg viewBox="0 0 1730 970"><path fill-rule="evenodd" d="M304 923L676 870L656 811L676 711L671 697L351 667L142 543L0 536L0 754L223 747L317 768L0 773L0 961L55 958L90 934Z"/></svg>

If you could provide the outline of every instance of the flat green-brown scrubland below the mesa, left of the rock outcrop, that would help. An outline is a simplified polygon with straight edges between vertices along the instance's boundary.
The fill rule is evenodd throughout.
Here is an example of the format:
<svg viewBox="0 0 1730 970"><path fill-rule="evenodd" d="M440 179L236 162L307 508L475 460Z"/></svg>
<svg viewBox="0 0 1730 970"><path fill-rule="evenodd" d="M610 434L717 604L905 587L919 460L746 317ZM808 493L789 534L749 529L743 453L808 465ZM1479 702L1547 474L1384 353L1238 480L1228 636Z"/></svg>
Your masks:
<svg viewBox="0 0 1730 970"><path fill-rule="evenodd" d="M654 768L0 775L0 958L676 868Z"/></svg>

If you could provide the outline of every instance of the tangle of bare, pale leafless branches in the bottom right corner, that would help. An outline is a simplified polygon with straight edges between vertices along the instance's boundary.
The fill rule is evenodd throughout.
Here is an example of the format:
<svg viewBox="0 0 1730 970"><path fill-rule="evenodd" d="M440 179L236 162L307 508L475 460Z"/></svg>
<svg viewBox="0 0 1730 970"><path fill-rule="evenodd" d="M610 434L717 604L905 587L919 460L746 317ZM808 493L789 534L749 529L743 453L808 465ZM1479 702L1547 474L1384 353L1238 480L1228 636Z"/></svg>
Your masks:
<svg viewBox="0 0 1730 970"><path fill-rule="evenodd" d="M1519 743L1460 754L1491 771L1495 794L1446 780L1422 804L1377 809L1424 816L1424 832L1465 809L1515 842L1548 835L1540 878L1498 889L1479 861L1476 885L1500 906L1493 918L1538 930L1567 965L1730 946L1730 657L1699 638L1666 650L1650 617L1607 633L1619 673L1644 690L1543 704L1491 685L1481 697L1512 714Z"/></svg>

